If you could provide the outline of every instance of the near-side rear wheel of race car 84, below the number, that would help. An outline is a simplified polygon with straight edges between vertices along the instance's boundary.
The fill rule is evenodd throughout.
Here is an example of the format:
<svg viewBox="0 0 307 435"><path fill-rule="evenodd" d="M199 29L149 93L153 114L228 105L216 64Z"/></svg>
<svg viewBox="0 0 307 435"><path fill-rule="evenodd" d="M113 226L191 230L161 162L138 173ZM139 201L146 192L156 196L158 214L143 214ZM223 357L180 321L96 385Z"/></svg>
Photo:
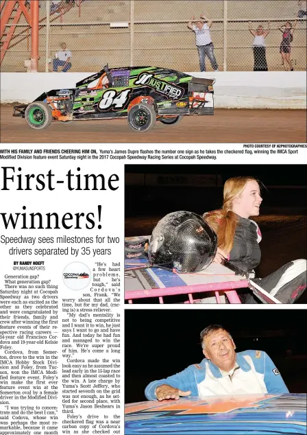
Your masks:
<svg viewBox="0 0 307 435"><path fill-rule="evenodd" d="M157 120L156 112L150 104L136 104L128 113L127 122L132 130L145 132L155 126Z"/></svg>

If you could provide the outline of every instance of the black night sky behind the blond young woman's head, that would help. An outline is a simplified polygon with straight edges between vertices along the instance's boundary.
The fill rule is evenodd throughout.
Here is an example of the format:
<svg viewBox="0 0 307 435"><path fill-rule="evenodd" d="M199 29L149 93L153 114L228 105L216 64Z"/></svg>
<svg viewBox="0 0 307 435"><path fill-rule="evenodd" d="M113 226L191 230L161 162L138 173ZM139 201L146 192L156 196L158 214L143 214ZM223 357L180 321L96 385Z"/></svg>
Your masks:
<svg viewBox="0 0 307 435"><path fill-rule="evenodd" d="M223 184L233 176L253 176L262 187L260 214L268 207L307 207L306 165L125 165L126 174L215 174L221 176L220 187L194 185L125 185L125 216L164 215L175 210L202 214L220 208ZM295 188L293 188L295 187ZM304 188L302 188L304 187ZM277 211L274 210L274 213ZM280 210L280 213L284 211Z"/></svg>

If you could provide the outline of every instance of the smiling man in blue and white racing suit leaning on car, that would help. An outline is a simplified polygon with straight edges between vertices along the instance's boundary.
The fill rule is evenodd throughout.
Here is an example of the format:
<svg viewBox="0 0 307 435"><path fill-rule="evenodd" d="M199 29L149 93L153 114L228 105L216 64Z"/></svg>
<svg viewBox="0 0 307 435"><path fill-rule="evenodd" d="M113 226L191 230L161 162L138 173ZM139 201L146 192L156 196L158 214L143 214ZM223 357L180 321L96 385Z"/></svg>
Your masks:
<svg viewBox="0 0 307 435"><path fill-rule="evenodd" d="M236 353L232 336L221 325L206 327L201 331L200 338L204 360L176 375L151 382L145 390L148 400L177 400L190 395L207 397L288 392L267 353Z"/></svg>

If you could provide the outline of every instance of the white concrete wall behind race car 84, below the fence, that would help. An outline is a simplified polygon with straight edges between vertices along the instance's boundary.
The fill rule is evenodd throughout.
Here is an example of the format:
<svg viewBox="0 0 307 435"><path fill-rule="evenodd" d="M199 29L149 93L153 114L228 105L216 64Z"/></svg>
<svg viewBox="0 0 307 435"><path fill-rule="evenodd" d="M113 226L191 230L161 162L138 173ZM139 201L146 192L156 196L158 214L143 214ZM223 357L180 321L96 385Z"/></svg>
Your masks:
<svg viewBox="0 0 307 435"><path fill-rule="evenodd" d="M189 73L215 78L217 108L306 108L306 72ZM51 89L74 88L90 73L1 73L1 104L29 103Z"/></svg>

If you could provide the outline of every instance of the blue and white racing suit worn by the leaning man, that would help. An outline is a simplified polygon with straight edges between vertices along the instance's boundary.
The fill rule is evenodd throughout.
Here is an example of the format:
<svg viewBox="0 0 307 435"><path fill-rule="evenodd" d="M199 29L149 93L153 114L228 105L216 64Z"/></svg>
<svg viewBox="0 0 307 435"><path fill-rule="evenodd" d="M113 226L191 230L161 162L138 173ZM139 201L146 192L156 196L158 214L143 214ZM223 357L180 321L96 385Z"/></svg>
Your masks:
<svg viewBox="0 0 307 435"><path fill-rule="evenodd" d="M210 360L188 366L184 371L166 379L151 382L145 389L148 400L156 399L156 388L167 384L182 391L191 391L191 396L239 394L283 394L286 384L275 368L273 361L263 351L236 353L232 371L222 371Z"/></svg>

